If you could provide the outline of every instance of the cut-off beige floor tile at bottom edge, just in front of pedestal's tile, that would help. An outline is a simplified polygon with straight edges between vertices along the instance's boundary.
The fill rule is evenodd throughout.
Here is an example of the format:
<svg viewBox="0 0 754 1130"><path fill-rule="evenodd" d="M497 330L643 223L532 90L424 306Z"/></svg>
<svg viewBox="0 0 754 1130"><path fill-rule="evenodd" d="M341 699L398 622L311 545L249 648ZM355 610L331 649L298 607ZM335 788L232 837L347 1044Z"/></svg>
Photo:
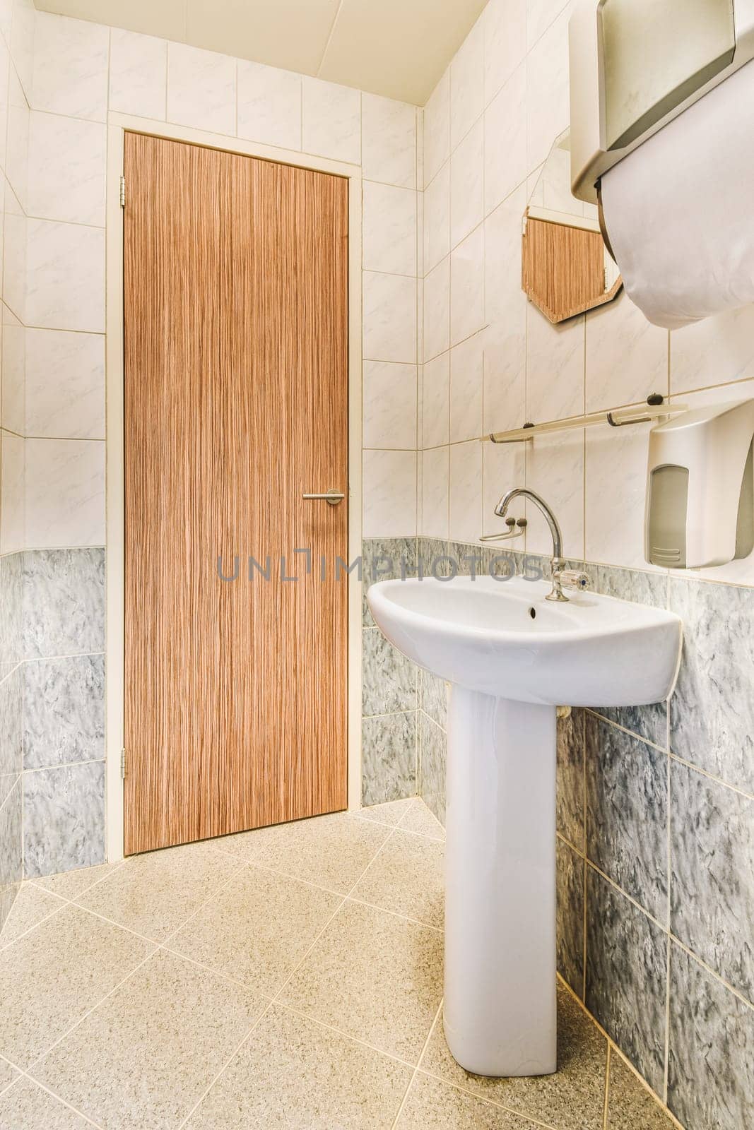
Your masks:
<svg viewBox="0 0 754 1130"><path fill-rule="evenodd" d="M396 1130L535 1130L536 1123L417 1075Z"/></svg>

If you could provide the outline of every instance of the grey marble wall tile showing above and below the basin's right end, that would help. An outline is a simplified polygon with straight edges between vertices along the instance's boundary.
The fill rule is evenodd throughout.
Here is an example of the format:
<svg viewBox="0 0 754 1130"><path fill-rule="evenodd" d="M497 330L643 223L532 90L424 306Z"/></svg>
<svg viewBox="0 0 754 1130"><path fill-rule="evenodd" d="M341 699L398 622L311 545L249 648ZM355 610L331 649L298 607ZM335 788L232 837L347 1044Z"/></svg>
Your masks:
<svg viewBox="0 0 754 1130"><path fill-rule="evenodd" d="M643 573L640 570L617 568L612 565L588 565L587 572L595 592L619 600L631 600L636 605L666 608L668 601L668 579L666 573ZM649 706L600 707L604 718L609 718L640 738L655 742L664 749L668 740L667 703Z"/></svg>

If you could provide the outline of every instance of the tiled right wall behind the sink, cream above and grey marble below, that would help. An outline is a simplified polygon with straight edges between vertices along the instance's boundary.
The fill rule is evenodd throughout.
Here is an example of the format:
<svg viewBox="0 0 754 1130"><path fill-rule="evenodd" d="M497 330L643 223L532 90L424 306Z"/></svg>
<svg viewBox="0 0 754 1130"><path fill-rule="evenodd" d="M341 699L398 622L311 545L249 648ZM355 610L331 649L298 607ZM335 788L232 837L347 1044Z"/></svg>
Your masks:
<svg viewBox="0 0 754 1130"><path fill-rule="evenodd" d="M754 307L668 334L625 295L560 327L522 295L522 212L569 124L569 15L558 0L491 0L425 107L417 553L470 551L501 528L503 492L526 484L598 591L683 617L669 711L561 724L558 965L688 1130L738 1130L754 1124L754 555L678 576L645 565L645 426L523 451L478 440L650 392L754 395ZM527 518L521 549L552 553L541 516ZM419 788L442 817L444 699L427 683Z"/></svg>

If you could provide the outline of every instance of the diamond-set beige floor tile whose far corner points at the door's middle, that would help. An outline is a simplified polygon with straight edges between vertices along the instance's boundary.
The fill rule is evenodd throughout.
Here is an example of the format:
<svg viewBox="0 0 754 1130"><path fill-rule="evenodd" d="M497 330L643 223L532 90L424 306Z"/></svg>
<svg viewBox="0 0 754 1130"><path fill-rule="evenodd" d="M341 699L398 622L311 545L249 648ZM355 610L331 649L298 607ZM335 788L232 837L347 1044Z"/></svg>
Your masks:
<svg viewBox="0 0 754 1130"><path fill-rule="evenodd" d="M187 922L171 949L271 997L339 903L327 890L244 866Z"/></svg>

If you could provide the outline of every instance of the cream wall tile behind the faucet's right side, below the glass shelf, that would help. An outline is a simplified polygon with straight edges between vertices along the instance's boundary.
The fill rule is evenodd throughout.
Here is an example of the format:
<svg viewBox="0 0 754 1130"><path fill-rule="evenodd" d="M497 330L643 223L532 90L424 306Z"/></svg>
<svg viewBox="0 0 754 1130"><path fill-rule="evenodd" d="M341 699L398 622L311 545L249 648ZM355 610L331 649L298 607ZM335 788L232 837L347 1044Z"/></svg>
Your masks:
<svg viewBox="0 0 754 1130"><path fill-rule="evenodd" d="M583 432L538 436L527 445L527 486L553 508L563 531L565 557L583 557ZM544 515L527 504L527 553L552 556Z"/></svg>

